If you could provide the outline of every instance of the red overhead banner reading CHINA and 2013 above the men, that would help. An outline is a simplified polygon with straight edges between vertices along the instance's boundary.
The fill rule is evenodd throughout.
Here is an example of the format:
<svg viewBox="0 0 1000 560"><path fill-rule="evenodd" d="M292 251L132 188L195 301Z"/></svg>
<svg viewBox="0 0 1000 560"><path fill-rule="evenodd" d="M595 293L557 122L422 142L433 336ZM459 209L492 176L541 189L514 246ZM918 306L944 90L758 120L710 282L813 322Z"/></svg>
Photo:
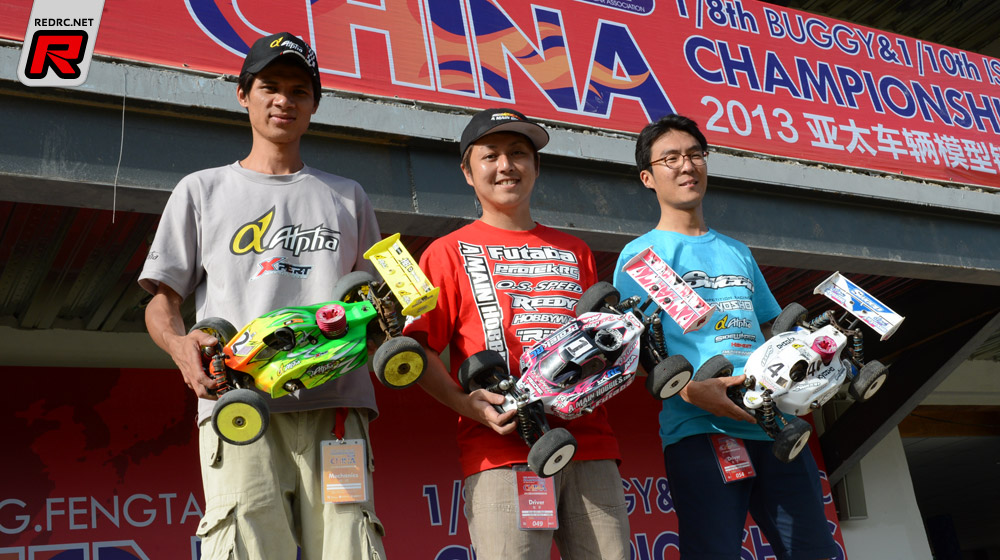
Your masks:
<svg viewBox="0 0 1000 560"><path fill-rule="evenodd" d="M96 52L235 74L277 31L338 90L1000 187L1000 60L756 0L107 0Z"/></svg>

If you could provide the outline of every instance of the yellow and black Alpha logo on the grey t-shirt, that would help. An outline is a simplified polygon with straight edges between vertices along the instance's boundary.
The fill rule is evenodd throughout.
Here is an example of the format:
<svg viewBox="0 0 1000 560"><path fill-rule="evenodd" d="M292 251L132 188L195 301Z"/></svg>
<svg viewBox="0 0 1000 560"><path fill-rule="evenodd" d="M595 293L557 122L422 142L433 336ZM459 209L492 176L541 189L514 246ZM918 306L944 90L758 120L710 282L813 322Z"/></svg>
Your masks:
<svg viewBox="0 0 1000 560"><path fill-rule="evenodd" d="M272 232L273 220L272 206L263 216L243 224L236 230L229 242L229 250L234 255L245 255L281 249L297 257L308 252L336 252L340 246L339 231L323 225L306 227L294 224L281 226Z"/></svg>

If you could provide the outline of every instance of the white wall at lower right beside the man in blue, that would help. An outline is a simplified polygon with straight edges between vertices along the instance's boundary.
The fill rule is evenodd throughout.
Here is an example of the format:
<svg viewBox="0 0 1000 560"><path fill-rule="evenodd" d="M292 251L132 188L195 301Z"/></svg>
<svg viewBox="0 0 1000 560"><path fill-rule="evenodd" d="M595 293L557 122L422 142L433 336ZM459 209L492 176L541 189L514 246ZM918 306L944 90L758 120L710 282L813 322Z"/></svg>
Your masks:
<svg viewBox="0 0 1000 560"><path fill-rule="evenodd" d="M867 519L840 523L849 560L931 560L899 431L860 463Z"/></svg>

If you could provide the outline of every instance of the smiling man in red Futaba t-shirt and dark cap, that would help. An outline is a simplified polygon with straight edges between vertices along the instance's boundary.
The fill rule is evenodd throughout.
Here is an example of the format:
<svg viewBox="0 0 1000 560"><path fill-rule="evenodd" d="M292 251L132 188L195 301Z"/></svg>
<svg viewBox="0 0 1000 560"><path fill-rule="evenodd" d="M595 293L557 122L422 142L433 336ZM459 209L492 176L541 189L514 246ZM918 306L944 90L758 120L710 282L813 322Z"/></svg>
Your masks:
<svg viewBox="0 0 1000 560"><path fill-rule="evenodd" d="M404 332L428 349L421 386L459 414L465 513L477 558L547 559L554 539L565 560L627 559L620 454L607 412L550 420L567 427L579 445L569 465L545 479L553 481L556 514L529 519L523 514L534 512L518 508L523 496L516 481L525 475L528 446L515 431L515 411L498 414L493 405L502 404L502 396L466 394L456 381L461 363L486 348L517 372L522 351L573 320L573 304L597 281L583 241L531 218L538 150L548 140L545 129L511 109L472 118L462 133L461 169L482 216L424 251L420 266L441 295L437 307ZM438 357L445 347L451 349L451 373Z"/></svg>

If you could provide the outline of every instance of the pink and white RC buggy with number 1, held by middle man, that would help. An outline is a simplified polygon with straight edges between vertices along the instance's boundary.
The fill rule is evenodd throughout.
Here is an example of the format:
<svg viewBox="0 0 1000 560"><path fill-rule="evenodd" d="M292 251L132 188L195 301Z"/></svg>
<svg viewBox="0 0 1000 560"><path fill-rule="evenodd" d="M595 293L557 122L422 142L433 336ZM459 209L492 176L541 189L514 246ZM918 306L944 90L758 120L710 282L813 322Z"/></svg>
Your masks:
<svg viewBox="0 0 1000 560"><path fill-rule="evenodd" d="M651 250L630 264L626 270L649 294L641 305L639 296L620 301L614 286L599 282L583 293L575 320L524 351L520 378L493 350L473 354L459 369L466 392L486 389L504 396L498 412L517 410L519 433L531 447L528 466L541 477L562 470L577 447L565 428L549 429L546 414L571 420L593 411L628 387L640 364L648 372L646 388L660 399L676 395L692 378L688 360L667 353L659 311L700 327L715 308Z"/></svg>

